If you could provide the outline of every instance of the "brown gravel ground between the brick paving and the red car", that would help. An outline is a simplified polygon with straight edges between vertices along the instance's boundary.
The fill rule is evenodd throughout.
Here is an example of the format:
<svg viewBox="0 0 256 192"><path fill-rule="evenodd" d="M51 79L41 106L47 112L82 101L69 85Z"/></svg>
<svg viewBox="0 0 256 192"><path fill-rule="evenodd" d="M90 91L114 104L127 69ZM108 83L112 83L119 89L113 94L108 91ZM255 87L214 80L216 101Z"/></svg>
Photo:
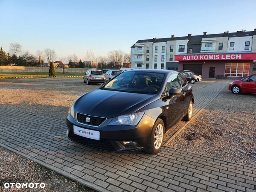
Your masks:
<svg viewBox="0 0 256 192"><path fill-rule="evenodd" d="M200 83L192 85L194 91L207 82ZM255 93L235 95L224 88L168 145L255 167L255 101Z"/></svg>

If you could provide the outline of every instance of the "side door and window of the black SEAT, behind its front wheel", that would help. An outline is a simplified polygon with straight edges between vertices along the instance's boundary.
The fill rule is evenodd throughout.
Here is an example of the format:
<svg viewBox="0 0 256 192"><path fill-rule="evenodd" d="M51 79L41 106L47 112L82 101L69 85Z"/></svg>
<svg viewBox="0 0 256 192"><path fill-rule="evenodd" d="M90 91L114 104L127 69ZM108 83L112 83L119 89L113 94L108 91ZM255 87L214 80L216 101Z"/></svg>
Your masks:
<svg viewBox="0 0 256 192"><path fill-rule="evenodd" d="M184 107L186 106L186 93L181 88L179 74L171 74L166 81L166 91L169 95L169 90L176 88L181 90L179 95L172 96L165 103L166 115L168 118L169 127L175 125L184 116Z"/></svg>

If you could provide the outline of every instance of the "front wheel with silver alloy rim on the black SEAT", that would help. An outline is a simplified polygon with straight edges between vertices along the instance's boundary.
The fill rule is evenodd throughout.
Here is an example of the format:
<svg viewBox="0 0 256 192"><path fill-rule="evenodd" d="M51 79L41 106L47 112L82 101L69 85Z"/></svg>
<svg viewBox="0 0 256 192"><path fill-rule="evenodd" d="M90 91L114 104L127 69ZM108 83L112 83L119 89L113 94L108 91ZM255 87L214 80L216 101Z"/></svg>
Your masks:
<svg viewBox="0 0 256 192"><path fill-rule="evenodd" d="M152 128L148 148L145 149L147 153L149 154L159 153L163 145L164 130L165 128L164 128L163 120L157 119L157 121L155 122Z"/></svg>

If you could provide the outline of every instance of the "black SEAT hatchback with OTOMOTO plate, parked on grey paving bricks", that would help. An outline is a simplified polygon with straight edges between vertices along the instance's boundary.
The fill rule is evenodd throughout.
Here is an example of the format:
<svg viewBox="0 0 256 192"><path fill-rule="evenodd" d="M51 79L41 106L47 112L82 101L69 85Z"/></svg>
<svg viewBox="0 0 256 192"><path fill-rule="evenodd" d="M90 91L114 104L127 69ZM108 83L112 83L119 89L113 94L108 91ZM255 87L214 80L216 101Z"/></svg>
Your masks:
<svg viewBox="0 0 256 192"><path fill-rule="evenodd" d="M193 103L192 87L176 71L124 71L76 99L67 113L67 137L100 150L157 154L164 133L191 119Z"/></svg>

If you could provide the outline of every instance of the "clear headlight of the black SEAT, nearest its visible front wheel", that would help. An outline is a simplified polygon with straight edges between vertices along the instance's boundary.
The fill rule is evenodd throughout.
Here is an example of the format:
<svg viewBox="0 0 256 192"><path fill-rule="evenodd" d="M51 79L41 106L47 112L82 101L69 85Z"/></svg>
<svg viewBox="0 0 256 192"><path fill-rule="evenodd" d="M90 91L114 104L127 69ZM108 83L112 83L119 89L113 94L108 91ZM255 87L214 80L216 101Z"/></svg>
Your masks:
<svg viewBox="0 0 256 192"><path fill-rule="evenodd" d="M121 115L114 118L108 125L137 125L144 115L144 111L139 113L132 113L128 115Z"/></svg>

